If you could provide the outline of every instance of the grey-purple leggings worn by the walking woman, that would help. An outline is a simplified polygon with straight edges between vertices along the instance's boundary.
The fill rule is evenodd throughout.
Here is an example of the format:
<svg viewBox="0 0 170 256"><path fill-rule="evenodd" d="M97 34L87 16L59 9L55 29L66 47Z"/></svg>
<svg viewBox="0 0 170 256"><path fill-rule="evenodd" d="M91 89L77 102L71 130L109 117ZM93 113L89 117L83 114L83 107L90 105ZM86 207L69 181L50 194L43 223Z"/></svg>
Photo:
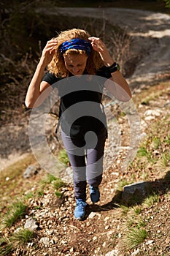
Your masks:
<svg viewBox="0 0 170 256"><path fill-rule="evenodd" d="M73 168L75 198L86 200L86 181L93 187L101 184L107 129L101 129L98 135L87 132L78 138L70 138L61 131L61 137Z"/></svg>

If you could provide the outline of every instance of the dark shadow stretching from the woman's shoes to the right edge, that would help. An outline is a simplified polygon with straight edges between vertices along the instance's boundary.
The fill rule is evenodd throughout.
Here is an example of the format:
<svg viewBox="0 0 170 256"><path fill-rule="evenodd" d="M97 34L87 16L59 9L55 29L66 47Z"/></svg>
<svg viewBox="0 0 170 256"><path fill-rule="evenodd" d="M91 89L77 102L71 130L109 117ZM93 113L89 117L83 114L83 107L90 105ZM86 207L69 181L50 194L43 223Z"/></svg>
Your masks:
<svg viewBox="0 0 170 256"><path fill-rule="evenodd" d="M117 191L112 200L102 206L96 204L88 205L85 219L91 212L110 211L114 208L120 208L120 206L136 206L142 204L150 195L165 195L170 190L170 171L161 179L128 185L129 189L131 189L131 193L127 193L128 195L125 195L125 187L123 191Z"/></svg>

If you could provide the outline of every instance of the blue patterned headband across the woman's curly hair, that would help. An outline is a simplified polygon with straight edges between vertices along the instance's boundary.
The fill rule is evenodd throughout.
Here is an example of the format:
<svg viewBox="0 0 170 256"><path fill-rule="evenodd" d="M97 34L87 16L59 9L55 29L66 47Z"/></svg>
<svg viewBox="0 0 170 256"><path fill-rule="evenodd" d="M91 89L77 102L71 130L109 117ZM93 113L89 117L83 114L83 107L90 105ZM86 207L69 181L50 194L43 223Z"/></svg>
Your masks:
<svg viewBox="0 0 170 256"><path fill-rule="evenodd" d="M60 50L61 50L61 53L65 53L66 50L69 50L69 49L85 50L85 52L89 56L91 52L91 48L92 46L90 42L84 39L74 38L74 39L70 39L68 41L63 42L61 44Z"/></svg>

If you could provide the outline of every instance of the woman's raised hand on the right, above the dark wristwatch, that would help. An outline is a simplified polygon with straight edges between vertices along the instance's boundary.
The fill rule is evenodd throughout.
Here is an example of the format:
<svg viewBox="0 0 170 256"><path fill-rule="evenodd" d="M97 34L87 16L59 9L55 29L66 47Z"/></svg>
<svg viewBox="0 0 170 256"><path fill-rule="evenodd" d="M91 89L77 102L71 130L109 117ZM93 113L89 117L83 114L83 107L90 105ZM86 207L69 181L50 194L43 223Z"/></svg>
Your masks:
<svg viewBox="0 0 170 256"><path fill-rule="evenodd" d="M111 66L114 61L110 56L106 45L104 45L104 42L102 42L101 39L98 37L89 37L88 39L91 41L93 50L96 50L100 54L101 59L104 61L104 64L107 66Z"/></svg>

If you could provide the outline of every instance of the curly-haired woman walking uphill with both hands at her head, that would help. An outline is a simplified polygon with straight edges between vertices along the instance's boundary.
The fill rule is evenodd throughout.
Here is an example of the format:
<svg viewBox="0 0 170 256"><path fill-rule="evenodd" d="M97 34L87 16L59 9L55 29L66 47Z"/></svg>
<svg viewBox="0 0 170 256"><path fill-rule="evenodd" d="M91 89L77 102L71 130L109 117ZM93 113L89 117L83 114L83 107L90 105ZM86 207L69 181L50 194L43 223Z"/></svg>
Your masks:
<svg viewBox="0 0 170 256"><path fill-rule="evenodd" d="M107 78L103 86L118 100L131 99L128 83L101 39L82 29L62 31L47 42L26 94L26 107L36 108L53 87L58 89L61 137L73 168L76 219L85 217L87 181L91 201L100 198L107 124L103 88L96 76Z"/></svg>

